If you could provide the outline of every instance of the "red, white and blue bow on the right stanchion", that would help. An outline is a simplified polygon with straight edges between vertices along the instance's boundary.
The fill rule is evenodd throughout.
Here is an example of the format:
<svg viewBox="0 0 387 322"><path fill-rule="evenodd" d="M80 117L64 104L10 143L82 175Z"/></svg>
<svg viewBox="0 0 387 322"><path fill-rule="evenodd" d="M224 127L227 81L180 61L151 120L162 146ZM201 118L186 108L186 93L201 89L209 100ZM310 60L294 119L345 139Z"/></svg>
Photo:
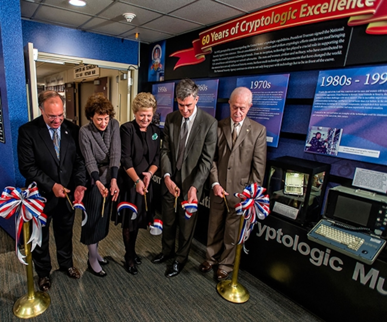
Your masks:
<svg viewBox="0 0 387 322"><path fill-rule="evenodd" d="M244 244L254 225L258 219L265 219L270 212L269 195L264 195L265 191L266 189L258 186L257 183L252 183L246 186L242 193L234 194L234 196L241 199L241 202L235 205L235 210L237 215L243 215L244 217L238 244L243 243L245 253L248 253L248 251Z"/></svg>

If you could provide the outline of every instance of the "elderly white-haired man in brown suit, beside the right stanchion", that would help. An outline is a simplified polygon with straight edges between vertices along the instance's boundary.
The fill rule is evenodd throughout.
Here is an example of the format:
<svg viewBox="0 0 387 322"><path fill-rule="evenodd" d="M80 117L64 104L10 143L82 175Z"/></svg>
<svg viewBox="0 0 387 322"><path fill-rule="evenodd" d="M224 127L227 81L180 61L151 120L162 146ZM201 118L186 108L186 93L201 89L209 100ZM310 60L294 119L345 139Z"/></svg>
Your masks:
<svg viewBox="0 0 387 322"><path fill-rule="evenodd" d="M233 270L240 216L234 196L251 183L262 185L266 165L266 128L246 115L252 106L252 93L238 87L230 96L230 117L218 123L217 153L210 172L211 208L209 215L206 260L201 272L214 265L217 280L226 279ZM226 196L230 212L224 203Z"/></svg>

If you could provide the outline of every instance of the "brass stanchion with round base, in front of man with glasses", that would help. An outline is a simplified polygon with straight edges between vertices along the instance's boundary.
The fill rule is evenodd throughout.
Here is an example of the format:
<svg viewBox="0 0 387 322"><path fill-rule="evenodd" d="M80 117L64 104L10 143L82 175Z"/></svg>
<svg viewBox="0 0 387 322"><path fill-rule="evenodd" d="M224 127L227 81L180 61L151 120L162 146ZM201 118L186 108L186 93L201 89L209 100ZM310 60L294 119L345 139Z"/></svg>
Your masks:
<svg viewBox="0 0 387 322"><path fill-rule="evenodd" d="M23 224L24 250L26 255L27 270L27 294L21 296L14 304L13 312L20 319L36 317L48 308L51 302L50 295L45 292L34 290L34 277L32 270L31 243L27 244L30 238L29 222Z"/></svg>

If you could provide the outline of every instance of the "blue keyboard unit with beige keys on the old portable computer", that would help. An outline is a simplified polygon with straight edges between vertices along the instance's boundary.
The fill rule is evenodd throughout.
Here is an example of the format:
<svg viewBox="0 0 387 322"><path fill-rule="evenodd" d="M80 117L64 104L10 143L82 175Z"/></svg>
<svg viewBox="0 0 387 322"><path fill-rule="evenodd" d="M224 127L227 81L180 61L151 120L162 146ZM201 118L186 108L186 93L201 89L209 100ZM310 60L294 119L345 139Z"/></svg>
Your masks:
<svg viewBox="0 0 387 322"><path fill-rule="evenodd" d="M307 234L308 239L339 253L371 265L386 241L360 231L335 226L331 220L321 219Z"/></svg>

